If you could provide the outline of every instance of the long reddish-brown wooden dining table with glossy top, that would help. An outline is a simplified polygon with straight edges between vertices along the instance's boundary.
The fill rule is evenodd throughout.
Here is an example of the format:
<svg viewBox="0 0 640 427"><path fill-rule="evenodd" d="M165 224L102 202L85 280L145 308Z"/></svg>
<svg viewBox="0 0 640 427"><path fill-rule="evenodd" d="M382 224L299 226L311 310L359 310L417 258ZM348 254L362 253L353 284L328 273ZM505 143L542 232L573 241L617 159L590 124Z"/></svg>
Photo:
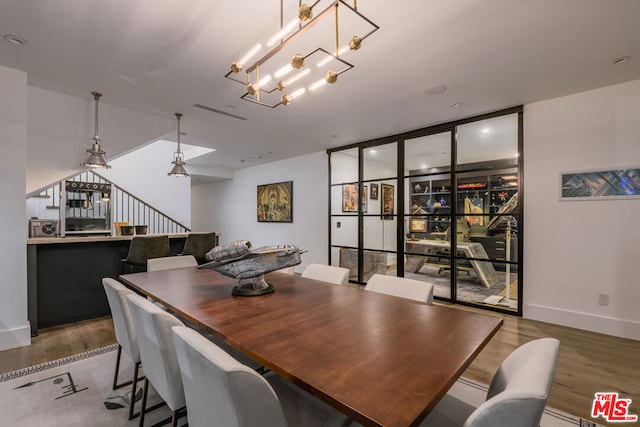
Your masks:
<svg viewBox="0 0 640 427"><path fill-rule="evenodd" d="M418 425L502 325L297 274L265 278L275 292L242 297L211 269L120 276L365 426Z"/></svg>

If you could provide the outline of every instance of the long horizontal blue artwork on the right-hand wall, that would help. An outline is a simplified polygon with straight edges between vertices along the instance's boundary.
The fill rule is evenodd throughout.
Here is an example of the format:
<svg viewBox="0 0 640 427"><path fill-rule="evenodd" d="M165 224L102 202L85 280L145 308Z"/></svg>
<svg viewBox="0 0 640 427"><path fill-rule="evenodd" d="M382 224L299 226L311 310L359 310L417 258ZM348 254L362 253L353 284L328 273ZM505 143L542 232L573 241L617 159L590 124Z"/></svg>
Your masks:
<svg viewBox="0 0 640 427"><path fill-rule="evenodd" d="M640 168L560 174L560 200L611 200L640 197Z"/></svg>

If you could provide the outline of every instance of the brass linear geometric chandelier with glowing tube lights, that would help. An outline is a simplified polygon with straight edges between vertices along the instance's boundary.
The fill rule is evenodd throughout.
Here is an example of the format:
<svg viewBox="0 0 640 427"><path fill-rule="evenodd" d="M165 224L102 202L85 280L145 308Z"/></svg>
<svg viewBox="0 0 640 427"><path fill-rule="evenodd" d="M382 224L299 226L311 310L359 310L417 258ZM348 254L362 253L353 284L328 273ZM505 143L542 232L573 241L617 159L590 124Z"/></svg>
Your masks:
<svg viewBox="0 0 640 427"><path fill-rule="evenodd" d="M356 0L353 7L344 0L297 3L296 15L285 24L280 0L280 29L231 64L225 77L245 86L241 99L275 108L337 82L353 68L344 57L379 29L358 12Z"/></svg>

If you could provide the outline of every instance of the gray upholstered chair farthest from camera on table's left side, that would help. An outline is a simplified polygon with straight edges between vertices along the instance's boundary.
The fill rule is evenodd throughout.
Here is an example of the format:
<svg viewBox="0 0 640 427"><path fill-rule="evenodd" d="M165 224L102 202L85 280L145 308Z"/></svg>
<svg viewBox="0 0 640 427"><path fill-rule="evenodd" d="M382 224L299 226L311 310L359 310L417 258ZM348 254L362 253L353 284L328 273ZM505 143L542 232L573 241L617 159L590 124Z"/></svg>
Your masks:
<svg viewBox="0 0 640 427"><path fill-rule="evenodd" d="M107 277L102 279L102 286L104 287L105 294L107 294L107 301L109 302L111 318L113 320L113 329L116 334L116 341L118 342L116 368L113 373L113 389L115 390L132 384L131 400L129 401L129 419L131 420L140 415L139 413L134 414L133 408L135 405L138 381L142 379L138 378L140 369L140 351L138 349L138 339L136 337L135 326L133 324L133 319L131 318L131 312L129 311L129 304L127 302L127 295L133 295L134 292L126 288L117 280ZM118 373L120 371L122 350L124 350L125 354L134 364L133 378L129 381L118 384Z"/></svg>

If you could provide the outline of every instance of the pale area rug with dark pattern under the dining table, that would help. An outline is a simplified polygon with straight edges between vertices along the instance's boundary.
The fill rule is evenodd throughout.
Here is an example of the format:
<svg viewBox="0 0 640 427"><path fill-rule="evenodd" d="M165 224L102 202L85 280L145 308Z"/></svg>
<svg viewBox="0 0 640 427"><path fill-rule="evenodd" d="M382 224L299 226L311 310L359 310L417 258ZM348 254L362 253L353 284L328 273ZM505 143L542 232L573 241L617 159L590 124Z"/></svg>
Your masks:
<svg viewBox="0 0 640 427"><path fill-rule="evenodd" d="M0 424L35 426L137 426L129 421L130 387L111 389L116 345L0 375ZM123 354L121 379L133 375ZM149 405L159 401L150 387ZM459 379L450 393L474 406L485 399L487 386ZM141 396L140 390L136 399ZM136 405L136 409L139 405ZM145 425L167 418L169 409L159 408L145 417ZM185 425L182 418L179 425ZM542 427L597 427L589 421L547 408Z"/></svg>

